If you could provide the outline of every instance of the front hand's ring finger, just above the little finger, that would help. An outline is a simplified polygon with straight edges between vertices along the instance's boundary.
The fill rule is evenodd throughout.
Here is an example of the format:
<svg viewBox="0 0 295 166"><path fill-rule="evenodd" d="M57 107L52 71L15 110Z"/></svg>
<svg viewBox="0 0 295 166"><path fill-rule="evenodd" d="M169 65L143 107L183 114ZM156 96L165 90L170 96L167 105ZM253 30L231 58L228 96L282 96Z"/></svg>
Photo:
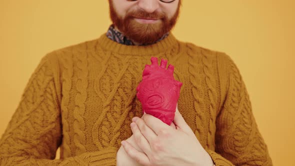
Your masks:
<svg viewBox="0 0 295 166"><path fill-rule="evenodd" d="M136 144L141 148L141 150L143 150L146 154L149 154L150 152L150 145L149 142L146 140L146 138L144 137L144 135L140 132L138 126L136 125L136 123L132 122L130 124L131 126L131 130L132 133L134 135L135 138L135 142Z"/></svg>

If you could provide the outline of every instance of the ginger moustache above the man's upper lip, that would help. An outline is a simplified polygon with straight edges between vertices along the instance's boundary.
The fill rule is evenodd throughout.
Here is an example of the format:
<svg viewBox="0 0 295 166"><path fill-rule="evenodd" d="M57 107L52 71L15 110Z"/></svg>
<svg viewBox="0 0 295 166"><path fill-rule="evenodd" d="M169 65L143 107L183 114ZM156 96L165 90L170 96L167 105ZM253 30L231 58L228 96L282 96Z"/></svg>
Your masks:
<svg viewBox="0 0 295 166"><path fill-rule="evenodd" d="M145 19L165 19L166 14L163 12L146 12L144 10L138 11L130 11L127 13L126 17L138 17L138 18L145 18Z"/></svg>

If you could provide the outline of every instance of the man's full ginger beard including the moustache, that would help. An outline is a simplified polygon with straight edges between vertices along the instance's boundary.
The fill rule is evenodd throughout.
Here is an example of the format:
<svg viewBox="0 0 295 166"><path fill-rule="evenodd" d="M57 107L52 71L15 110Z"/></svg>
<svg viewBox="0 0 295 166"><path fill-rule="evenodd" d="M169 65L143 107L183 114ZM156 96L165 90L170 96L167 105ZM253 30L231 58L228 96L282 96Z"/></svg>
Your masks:
<svg viewBox="0 0 295 166"><path fill-rule="evenodd" d="M114 26L128 39L140 44L156 42L174 27L179 15L180 0L175 14L170 19L165 13L148 13L144 10L128 11L125 17L122 18L116 13L112 0L108 1L110 18ZM157 23L139 23L134 17L160 19L160 21Z"/></svg>

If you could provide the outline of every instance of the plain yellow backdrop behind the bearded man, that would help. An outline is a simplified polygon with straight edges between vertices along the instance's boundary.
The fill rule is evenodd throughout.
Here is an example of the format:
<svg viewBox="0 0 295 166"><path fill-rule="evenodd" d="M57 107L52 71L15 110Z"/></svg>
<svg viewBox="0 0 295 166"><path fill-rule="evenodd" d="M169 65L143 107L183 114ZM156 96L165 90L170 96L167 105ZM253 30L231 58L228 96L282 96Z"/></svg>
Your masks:
<svg viewBox="0 0 295 166"><path fill-rule="evenodd" d="M294 6L294 0L183 0L173 30L235 61L274 165L294 164ZM0 0L0 135L40 58L97 38L109 24L107 0Z"/></svg>

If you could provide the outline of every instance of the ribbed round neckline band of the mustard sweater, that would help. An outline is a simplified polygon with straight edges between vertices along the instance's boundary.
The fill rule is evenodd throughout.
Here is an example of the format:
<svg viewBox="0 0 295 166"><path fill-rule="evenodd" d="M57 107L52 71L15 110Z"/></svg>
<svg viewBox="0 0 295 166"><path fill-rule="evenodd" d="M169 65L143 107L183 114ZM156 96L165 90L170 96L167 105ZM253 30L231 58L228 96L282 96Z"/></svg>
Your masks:
<svg viewBox="0 0 295 166"><path fill-rule="evenodd" d="M127 55L151 55L166 52L177 46L178 40L170 33L166 38L150 45L125 45L109 39L106 34L102 34L97 41L97 46L104 50L109 50L118 54Z"/></svg>

